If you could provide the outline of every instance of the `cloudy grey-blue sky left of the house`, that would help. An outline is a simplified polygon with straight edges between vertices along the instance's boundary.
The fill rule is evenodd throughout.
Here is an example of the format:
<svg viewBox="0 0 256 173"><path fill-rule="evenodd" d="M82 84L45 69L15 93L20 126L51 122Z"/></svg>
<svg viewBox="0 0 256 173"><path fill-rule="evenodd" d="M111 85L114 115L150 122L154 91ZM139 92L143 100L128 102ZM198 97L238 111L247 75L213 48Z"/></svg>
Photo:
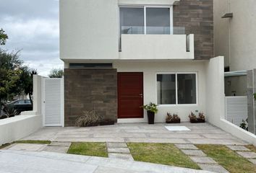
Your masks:
<svg viewBox="0 0 256 173"><path fill-rule="evenodd" d="M0 29L9 39L1 48L21 50L20 58L38 74L63 68L59 59L59 0L0 0Z"/></svg>

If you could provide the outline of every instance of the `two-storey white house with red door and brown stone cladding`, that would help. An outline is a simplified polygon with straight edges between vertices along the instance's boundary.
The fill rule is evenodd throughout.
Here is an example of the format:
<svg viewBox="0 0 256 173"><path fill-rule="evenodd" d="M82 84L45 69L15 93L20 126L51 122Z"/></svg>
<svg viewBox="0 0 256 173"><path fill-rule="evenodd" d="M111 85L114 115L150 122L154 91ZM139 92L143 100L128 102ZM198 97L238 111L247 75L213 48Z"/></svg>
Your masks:
<svg viewBox="0 0 256 173"><path fill-rule="evenodd" d="M141 106L150 102L158 104L156 122L166 112L188 121L189 112L223 102L208 98L222 86L211 80L222 63L209 61L213 0L61 0L60 57L65 126L85 110L147 122Z"/></svg>

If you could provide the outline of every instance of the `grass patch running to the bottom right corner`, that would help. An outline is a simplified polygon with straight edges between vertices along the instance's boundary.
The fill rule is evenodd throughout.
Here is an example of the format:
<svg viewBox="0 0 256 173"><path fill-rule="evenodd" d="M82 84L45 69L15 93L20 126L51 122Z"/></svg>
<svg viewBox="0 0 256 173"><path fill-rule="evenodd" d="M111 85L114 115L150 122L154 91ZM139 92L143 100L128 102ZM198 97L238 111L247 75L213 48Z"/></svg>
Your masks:
<svg viewBox="0 0 256 173"><path fill-rule="evenodd" d="M226 146L197 145L197 147L231 173L252 173L256 170L256 165L244 159L242 156L239 156Z"/></svg>

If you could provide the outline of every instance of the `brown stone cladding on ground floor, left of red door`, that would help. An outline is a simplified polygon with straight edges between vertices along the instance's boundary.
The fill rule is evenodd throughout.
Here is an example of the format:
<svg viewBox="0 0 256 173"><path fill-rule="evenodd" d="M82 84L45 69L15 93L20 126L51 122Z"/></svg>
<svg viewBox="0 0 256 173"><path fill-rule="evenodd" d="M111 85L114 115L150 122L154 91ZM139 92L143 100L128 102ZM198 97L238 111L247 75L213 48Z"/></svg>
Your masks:
<svg viewBox="0 0 256 173"><path fill-rule="evenodd" d="M116 69L64 69L64 125L74 126L85 110L95 110L105 120L117 120Z"/></svg>

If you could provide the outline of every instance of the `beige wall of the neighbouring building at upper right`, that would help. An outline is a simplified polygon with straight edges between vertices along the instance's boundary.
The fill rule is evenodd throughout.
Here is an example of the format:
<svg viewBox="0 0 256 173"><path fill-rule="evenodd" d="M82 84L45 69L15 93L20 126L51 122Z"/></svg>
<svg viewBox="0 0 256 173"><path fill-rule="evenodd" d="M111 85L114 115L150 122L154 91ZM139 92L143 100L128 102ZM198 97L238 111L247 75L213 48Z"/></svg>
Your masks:
<svg viewBox="0 0 256 173"><path fill-rule="evenodd" d="M225 56L231 71L256 67L255 0L214 0L214 33L216 56ZM232 12L232 18L222 19Z"/></svg>

